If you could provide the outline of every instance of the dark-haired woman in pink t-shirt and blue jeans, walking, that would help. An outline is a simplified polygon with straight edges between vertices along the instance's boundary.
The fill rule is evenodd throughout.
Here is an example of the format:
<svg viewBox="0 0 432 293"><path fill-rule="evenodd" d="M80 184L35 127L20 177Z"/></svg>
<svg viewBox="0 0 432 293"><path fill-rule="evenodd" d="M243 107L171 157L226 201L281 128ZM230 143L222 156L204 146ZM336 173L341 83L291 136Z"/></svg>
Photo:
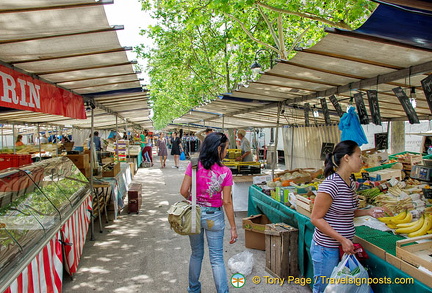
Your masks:
<svg viewBox="0 0 432 293"><path fill-rule="evenodd" d="M200 234L189 235L192 254L189 261L188 292L201 292L199 277L204 257L204 234L207 238L216 291L229 291L223 257L224 211L231 227L231 244L237 241L237 229L231 197L232 173L228 167L222 165L228 144L225 134L215 132L205 138L201 147L196 172L196 196L197 204L201 207L202 228ZM191 185L192 164L189 163L180 188L180 193L185 198L190 198Z"/></svg>

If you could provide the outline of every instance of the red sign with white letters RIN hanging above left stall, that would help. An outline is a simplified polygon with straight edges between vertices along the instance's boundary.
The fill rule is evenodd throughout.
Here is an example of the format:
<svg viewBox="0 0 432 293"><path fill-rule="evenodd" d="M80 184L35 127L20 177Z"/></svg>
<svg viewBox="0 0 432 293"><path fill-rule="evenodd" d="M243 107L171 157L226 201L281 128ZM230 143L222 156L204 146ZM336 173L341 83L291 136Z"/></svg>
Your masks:
<svg viewBox="0 0 432 293"><path fill-rule="evenodd" d="M0 65L0 107L86 119L80 95Z"/></svg>

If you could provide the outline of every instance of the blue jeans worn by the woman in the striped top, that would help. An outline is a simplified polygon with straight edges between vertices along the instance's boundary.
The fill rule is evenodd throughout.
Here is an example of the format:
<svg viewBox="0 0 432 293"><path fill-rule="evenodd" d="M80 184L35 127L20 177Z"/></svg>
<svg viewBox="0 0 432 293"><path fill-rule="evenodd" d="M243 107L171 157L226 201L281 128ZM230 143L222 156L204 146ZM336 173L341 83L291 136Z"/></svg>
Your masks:
<svg viewBox="0 0 432 293"><path fill-rule="evenodd" d="M326 278L330 278L333 269L339 263L339 248L328 248L312 240L310 253L314 266L313 293L324 292L327 286Z"/></svg>

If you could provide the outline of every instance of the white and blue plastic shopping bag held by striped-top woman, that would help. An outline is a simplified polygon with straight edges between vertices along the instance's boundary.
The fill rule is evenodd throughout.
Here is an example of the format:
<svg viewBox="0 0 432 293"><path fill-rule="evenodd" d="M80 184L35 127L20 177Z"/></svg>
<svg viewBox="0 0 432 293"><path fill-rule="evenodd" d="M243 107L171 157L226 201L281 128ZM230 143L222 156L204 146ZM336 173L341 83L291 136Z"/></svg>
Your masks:
<svg viewBox="0 0 432 293"><path fill-rule="evenodd" d="M326 282L324 293L369 293L369 275L355 255L344 254Z"/></svg>

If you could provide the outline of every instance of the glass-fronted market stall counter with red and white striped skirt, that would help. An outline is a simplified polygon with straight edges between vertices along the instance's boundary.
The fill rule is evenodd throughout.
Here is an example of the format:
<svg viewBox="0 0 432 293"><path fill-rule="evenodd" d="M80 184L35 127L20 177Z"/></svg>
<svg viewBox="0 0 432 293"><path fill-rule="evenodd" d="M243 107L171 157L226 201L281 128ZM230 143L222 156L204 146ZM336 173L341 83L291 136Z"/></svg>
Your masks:
<svg viewBox="0 0 432 293"><path fill-rule="evenodd" d="M23 279L28 286L61 287L59 265L70 274L76 271L90 223L89 209L89 182L66 157L2 171L0 291L11 284L13 290ZM65 259L58 248L64 250ZM31 278L44 274L40 262L46 258L43 268L52 278L37 283ZM33 276L29 271L35 272Z"/></svg>

